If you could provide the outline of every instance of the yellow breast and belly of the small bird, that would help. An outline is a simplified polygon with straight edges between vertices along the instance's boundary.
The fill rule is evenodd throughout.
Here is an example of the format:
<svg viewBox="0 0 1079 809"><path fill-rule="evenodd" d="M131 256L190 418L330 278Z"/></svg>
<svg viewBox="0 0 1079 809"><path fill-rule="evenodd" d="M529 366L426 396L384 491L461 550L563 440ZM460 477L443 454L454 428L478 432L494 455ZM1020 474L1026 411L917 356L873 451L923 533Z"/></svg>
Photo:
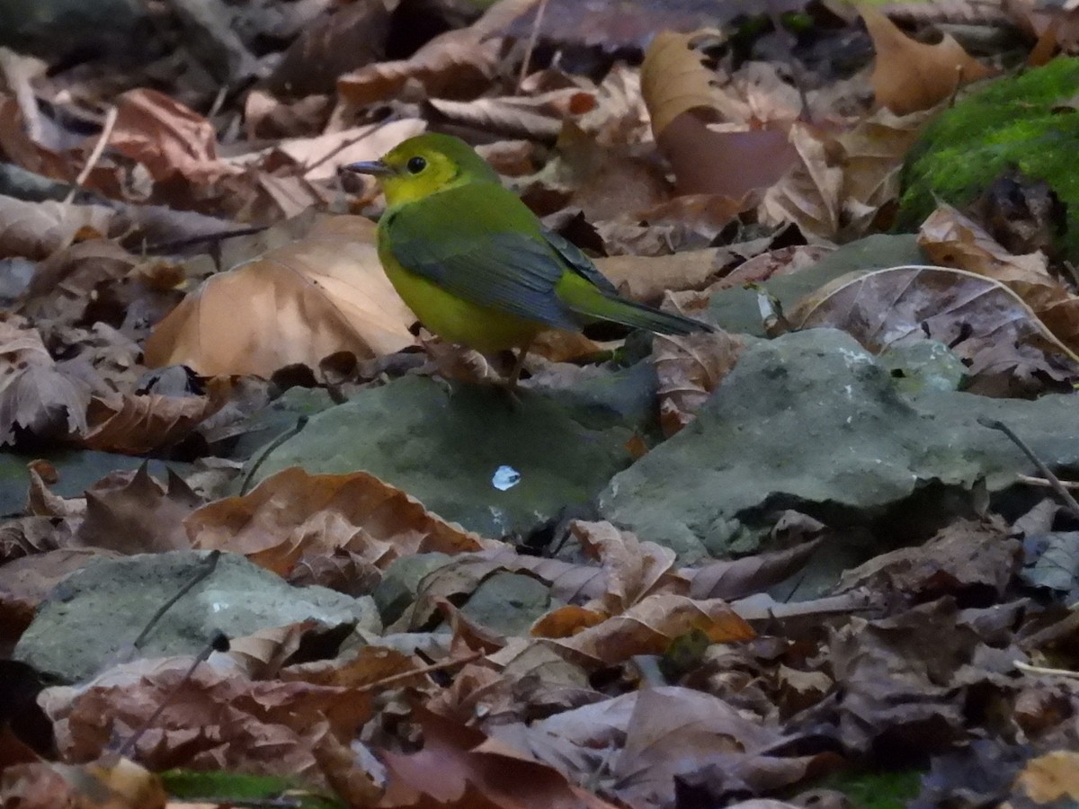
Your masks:
<svg viewBox="0 0 1079 809"><path fill-rule="evenodd" d="M397 294L420 323L442 340L491 354L523 346L547 328L543 323L466 301L409 272L393 257L382 239L379 258Z"/></svg>

